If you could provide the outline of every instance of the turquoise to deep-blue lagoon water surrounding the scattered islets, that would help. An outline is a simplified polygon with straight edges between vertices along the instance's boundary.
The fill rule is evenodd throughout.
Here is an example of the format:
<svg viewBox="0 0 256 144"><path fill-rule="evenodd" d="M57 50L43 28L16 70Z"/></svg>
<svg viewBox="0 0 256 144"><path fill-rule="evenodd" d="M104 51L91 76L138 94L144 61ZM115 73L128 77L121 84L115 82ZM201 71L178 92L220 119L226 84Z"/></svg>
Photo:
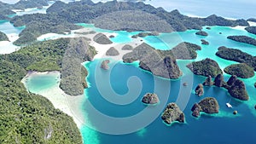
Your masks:
<svg viewBox="0 0 256 144"><path fill-rule="evenodd" d="M256 47L244 43L236 43L227 39L229 35L247 35L255 37L244 30L224 27L212 26L211 30L207 30L209 36L202 37L195 35L195 30L175 33L177 39L169 39L173 37L173 33L163 33L158 37L146 37L144 41L156 49L172 49L182 41L196 43L201 45L201 39L206 39L210 44L201 45L202 50L197 51L198 57L196 60L202 60L207 57L217 60L221 68L234 64L236 62L218 58L215 53L219 46L227 46L230 48L241 49L251 55L256 55ZM219 34L222 32L222 34ZM129 32L118 32L124 39L129 39L131 34ZM116 42L118 43L118 42ZM120 42L122 43L122 38ZM124 42L125 43L125 42ZM162 46L165 46L164 48ZM88 89L84 89L84 101L81 104L81 111L84 112L86 124L81 128L81 134L84 138L84 143L90 144L153 144L153 143L253 143L256 141L254 130L256 127L256 89L253 87L256 82L256 76L253 78L243 79L248 94L249 101L238 101L232 98L227 90L217 87L205 87L205 95L213 96L218 100L220 112L218 114L201 114L201 118L194 118L191 115L191 107L195 102L201 101L202 98L196 96L193 92L197 84L202 83L206 78L196 76L186 65L194 60L177 60L178 65L183 71L183 77L177 80L168 80L164 78L154 77L150 72L145 72L138 68L137 62L132 64L124 64L121 61L111 61L111 70L103 71L99 68L102 59L86 62L85 67L89 70L87 81L90 83ZM40 76L38 76L40 77ZM99 81L100 78L100 81ZM133 79L132 78L137 78ZM230 75L224 74L225 80L230 78ZM33 79L33 78L32 78ZM40 79L40 78L39 78ZM54 81L47 81L47 84L55 84ZM99 82L101 82L99 84ZM188 87L183 87L183 82L189 82ZM37 84L37 81L31 80L32 89L40 89L44 84ZM49 86L45 84L45 86ZM104 87L110 85L110 88ZM128 84L128 85L127 85ZM168 85L168 87L166 87ZM138 95L130 103L118 103L122 99L129 99L130 89L142 86L141 91L138 90ZM158 89L154 89L157 87ZM109 90L109 93L108 93ZM169 91L170 90L170 91ZM186 91L187 93L183 93ZM102 93L103 92L103 93ZM114 92L114 93L113 93ZM160 95L160 104L155 107L147 107L142 104L141 99L147 92L155 92ZM131 93L132 94L132 93ZM166 95L167 94L167 95ZM183 95L181 95L183 94ZM107 96L107 97L106 97ZM125 97L125 96L128 96ZM116 97L119 101L114 101L111 97ZM110 102L112 101L112 102ZM167 126L160 118L160 112L155 113L156 110L161 109L168 102L177 102L182 107L186 116L185 124L172 124ZM233 108L225 106L226 102L230 102ZM112 118L130 118L139 112L145 110L152 110L152 115L155 118L143 117L137 120L125 123L124 129L129 129L135 125L140 125L142 122L148 125L137 127L131 133L123 135L111 135L119 124L117 121L109 121L108 118L102 118L102 115ZM237 110L238 115L233 115L232 112ZM149 111L150 112L150 111ZM99 114L100 113L100 114ZM149 113L150 114L150 113ZM152 120L152 122L150 121ZM149 122L148 122L149 121ZM108 129L108 130L107 130ZM106 130L109 133L104 133ZM121 133L121 131L119 131Z"/></svg>

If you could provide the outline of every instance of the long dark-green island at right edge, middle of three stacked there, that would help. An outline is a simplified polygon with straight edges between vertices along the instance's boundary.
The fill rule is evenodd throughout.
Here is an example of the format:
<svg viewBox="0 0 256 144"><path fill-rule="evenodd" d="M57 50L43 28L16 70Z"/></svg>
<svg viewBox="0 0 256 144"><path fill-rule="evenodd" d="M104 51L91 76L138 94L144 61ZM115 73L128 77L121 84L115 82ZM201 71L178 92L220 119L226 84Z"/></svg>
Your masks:
<svg viewBox="0 0 256 144"><path fill-rule="evenodd" d="M216 55L225 60L234 60L236 62L246 63L248 66L252 66L254 71L256 71L256 57L242 52L240 49L231 49L222 46L218 48Z"/></svg>

